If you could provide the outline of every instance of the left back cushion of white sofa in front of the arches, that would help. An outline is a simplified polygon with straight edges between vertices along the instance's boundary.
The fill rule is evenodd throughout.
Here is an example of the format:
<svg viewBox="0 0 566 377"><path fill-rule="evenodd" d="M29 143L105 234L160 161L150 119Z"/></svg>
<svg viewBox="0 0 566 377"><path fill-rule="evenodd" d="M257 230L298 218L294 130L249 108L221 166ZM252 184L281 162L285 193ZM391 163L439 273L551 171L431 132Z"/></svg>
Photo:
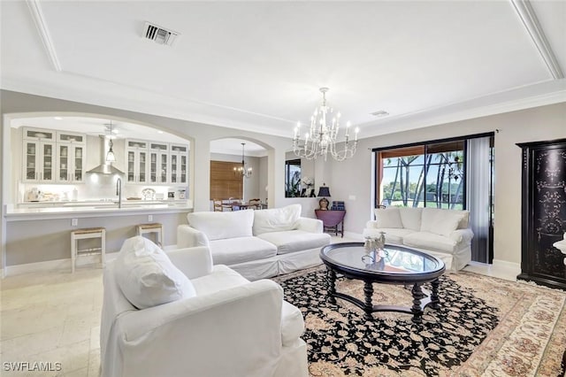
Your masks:
<svg viewBox="0 0 566 377"><path fill-rule="evenodd" d="M210 241L234 237L250 237L254 211L192 212L187 214L188 225L203 232Z"/></svg>

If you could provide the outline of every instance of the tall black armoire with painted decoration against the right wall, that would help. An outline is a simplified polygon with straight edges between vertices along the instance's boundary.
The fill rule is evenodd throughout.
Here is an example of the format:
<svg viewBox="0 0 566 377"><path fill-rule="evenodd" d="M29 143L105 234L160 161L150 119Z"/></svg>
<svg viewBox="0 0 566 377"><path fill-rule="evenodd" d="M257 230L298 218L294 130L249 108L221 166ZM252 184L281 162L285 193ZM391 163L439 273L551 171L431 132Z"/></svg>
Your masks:
<svg viewBox="0 0 566 377"><path fill-rule="evenodd" d="M566 139L517 144L523 149L521 273L517 279L566 289Z"/></svg>

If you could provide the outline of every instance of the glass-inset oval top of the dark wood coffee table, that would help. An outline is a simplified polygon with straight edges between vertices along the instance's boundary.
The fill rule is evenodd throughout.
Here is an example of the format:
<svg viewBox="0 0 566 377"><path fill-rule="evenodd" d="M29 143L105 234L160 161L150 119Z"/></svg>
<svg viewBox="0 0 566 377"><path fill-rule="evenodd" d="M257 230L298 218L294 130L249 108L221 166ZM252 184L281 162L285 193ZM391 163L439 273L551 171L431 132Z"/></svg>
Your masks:
<svg viewBox="0 0 566 377"><path fill-rule="evenodd" d="M385 256L366 257L363 242L331 243L320 251L320 258L333 270L351 277L381 282L430 281L446 267L439 258L422 251L386 244Z"/></svg>

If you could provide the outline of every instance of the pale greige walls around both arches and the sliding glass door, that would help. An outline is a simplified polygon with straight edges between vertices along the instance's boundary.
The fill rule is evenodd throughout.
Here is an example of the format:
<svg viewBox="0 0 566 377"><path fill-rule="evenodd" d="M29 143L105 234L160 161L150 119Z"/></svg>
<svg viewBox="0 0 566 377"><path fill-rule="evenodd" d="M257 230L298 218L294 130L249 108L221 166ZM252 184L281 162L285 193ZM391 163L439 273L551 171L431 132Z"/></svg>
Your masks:
<svg viewBox="0 0 566 377"><path fill-rule="evenodd" d="M209 210L210 141L235 137L256 142L264 146L268 152L267 163L261 165L262 169L266 167L267 170L267 184L265 186L268 186L270 206L280 207L290 203L285 198L284 174L286 150L291 146L290 138L256 134L239 129L215 127L180 119L126 112L119 109L4 90L1 92L0 98L2 100L2 112L9 116L11 113L24 112L103 114L108 119L129 119L187 138L191 141L190 182L191 185L194 185L194 188L191 187L190 191L191 198L195 203L195 211ZM6 127L4 118L3 127ZM293 125L289 125L289 135L291 135L292 129ZM519 263L521 150L515 144L516 142L566 137L566 103L361 139L354 158L340 163L331 158L326 162L320 159L315 162L316 188L325 182L331 189L332 200L343 200L346 203L345 230L359 234L362 233L365 222L371 219L373 205L371 203L371 187L373 185L371 148L473 135L495 131L496 129L499 129L500 132L495 135L494 259ZM5 137L5 134L3 136ZM3 142L3 145L5 147L6 142ZM3 169L6 164L11 164L10 152L9 146L8 150L3 150ZM261 184L264 185L263 182ZM3 189L6 189L5 182ZM6 204L4 194L3 205ZM258 193L258 196L264 198L262 193ZM316 207L317 200L312 200L312 202L313 206ZM0 236L4 235L0 234Z"/></svg>

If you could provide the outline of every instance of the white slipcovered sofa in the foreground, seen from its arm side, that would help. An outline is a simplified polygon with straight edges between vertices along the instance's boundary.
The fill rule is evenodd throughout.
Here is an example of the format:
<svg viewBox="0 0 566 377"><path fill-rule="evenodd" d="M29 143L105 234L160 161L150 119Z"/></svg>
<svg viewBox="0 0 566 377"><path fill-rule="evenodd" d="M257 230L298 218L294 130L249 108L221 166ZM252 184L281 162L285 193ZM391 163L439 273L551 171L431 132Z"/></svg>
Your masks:
<svg viewBox="0 0 566 377"><path fill-rule="evenodd" d="M103 284L103 377L308 376L302 312L274 281L213 266L207 248L133 237Z"/></svg>

